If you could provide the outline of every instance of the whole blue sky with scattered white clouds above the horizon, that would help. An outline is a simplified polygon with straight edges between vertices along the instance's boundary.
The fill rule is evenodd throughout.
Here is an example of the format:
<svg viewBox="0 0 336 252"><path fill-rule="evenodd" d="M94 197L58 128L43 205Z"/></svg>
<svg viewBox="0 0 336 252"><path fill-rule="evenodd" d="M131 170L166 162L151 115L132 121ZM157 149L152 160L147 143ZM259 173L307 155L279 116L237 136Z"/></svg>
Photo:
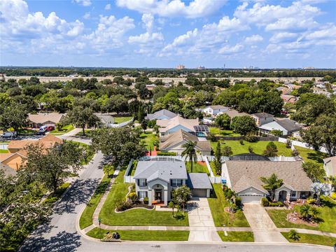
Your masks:
<svg viewBox="0 0 336 252"><path fill-rule="evenodd" d="M336 1L0 1L1 66L336 68Z"/></svg>

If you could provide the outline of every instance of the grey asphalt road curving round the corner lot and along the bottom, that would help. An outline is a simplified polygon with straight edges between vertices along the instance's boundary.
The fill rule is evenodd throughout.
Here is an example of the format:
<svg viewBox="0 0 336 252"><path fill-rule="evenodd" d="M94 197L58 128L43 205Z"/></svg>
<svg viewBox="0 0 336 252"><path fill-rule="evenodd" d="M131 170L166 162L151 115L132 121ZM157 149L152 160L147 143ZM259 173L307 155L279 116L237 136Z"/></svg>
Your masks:
<svg viewBox="0 0 336 252"><path fill-rule="evenodd" d="M78 141L78 139L76 139ZM258 244L258 243L211 243L200 244L190 242L123 242L102 243L80 236L76 230L78 214L85 208L92 193L102 179L102 153L97 153L85 171L73 183L67 193L55 205L54 214L48 224L36 229L20 247L19 251L297 251L316 252L332 251L322 246L304 246L296 244Z"/></svg>

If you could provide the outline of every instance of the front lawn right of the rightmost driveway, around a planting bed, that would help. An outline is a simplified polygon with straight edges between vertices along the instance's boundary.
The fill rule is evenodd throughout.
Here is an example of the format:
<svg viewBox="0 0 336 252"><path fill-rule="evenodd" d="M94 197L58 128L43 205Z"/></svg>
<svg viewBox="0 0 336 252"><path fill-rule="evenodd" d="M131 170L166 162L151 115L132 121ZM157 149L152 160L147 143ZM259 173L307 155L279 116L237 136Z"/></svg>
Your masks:
<svg viewBox="0 0 336 252"><path fill-rule="evenodd" d="M336 207L318 207L321 212L318 214L323 222L319 223L317 227L304 224L295 224L287 221L286 216L293 210L267 210L269 217L278 228L304 228L310 230L320 230L325 232L336 232Z"/></svg>

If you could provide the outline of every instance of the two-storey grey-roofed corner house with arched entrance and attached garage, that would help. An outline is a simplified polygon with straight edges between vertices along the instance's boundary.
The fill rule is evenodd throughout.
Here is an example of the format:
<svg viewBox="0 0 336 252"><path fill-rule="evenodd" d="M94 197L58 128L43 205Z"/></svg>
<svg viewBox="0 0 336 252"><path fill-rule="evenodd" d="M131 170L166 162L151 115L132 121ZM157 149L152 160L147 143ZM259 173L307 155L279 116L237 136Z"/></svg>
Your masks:
<svg viewBox="0 0 336 252"><path fill-rule="evenodd" d="M208 181L207 174L204 174ZM148 204L164 204L172 200L172 190L186 185L190 176L187 175L186 165L181 160L171 161L139 161L134 173L135 190L139 199L148 197ZM204 176L191 175L192 193L200 197L207 197L209 183ZM190 185L190 184L189 184ZM211 186L211 184L210 184ZM210 195L210 193L209 193Z"/></svg>

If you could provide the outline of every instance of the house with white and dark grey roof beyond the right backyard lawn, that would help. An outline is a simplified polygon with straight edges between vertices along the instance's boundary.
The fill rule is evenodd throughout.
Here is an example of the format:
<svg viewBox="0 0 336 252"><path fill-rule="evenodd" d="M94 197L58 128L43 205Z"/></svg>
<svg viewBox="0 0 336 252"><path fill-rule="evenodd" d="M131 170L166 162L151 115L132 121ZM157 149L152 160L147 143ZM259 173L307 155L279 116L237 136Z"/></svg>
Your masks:
<svg viewBox="0 0 336 252"><path fill-rule="evenodd" d="M259 130L265 133L272 132L272 130L281 130L283 136L293 134L293 132L297 132L300 129L302 129L302 125L290 119L276 120L259 127Z"/></svg>

